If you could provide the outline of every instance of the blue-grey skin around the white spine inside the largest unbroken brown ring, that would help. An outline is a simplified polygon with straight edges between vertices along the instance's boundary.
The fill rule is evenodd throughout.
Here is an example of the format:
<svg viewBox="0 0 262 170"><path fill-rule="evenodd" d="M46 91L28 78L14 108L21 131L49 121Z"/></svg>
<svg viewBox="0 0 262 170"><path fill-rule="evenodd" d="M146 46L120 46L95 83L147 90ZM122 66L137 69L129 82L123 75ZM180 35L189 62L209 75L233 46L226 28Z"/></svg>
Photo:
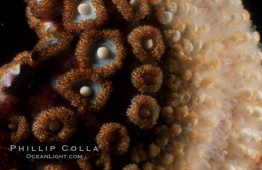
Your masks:
<svg viewBox="0 0 262 170"><path fill-rule="evenodd" d="M107 48L109 52L107 58L101 59L97 56L97 50L99 47ZM104 67L110 62L114 62L116 60L116 46L114 45L114 41L109 38L91 40L86 47L86 54L88 55L88 61L91 66Z"/></svg>

